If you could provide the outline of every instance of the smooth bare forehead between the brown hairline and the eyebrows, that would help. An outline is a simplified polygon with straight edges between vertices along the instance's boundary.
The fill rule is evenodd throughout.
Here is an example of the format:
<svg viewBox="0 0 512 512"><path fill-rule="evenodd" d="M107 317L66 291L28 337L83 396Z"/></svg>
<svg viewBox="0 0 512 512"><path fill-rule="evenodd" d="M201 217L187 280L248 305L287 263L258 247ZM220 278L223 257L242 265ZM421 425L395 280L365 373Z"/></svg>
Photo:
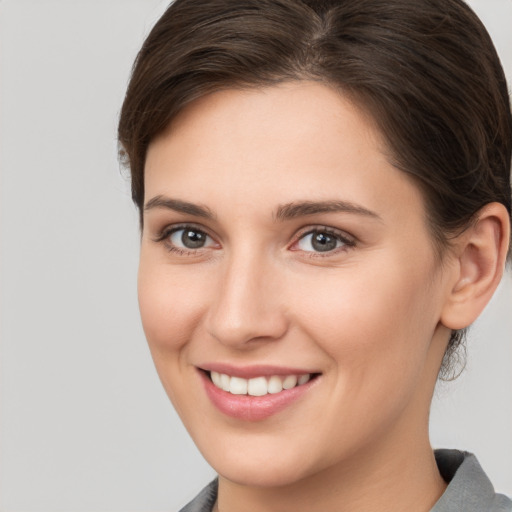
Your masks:
<svg viewBox="0 0 512 512"><path fill-rule="evenodd" d="M146 201L179 194L229 199L244 210L262 200L343 199L369 209L402 196L421 203L385 149L373 119L328 86L220 91L186 107L151 143Z"/></svg>

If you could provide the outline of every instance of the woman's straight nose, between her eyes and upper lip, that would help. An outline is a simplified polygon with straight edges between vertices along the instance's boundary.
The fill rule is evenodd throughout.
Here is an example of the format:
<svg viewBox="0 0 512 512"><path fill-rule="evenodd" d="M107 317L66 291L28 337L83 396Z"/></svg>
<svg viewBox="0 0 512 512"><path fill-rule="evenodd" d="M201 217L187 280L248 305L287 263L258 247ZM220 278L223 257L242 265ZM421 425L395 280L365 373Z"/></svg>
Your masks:
<svg viewBox="0 0 512 512"><path fill-rule="evenodd" d="M250 349L281 338L288 328L280 272L262 255L233 255L219 273L206 329L220 343Z"/></svg>

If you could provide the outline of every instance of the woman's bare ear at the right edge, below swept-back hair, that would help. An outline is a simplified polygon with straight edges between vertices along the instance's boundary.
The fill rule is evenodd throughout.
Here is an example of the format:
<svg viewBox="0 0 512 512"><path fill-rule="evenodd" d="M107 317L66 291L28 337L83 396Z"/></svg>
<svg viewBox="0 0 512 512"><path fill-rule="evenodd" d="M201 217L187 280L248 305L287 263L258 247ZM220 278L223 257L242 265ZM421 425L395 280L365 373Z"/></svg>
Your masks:
<svg viewBox="0 0 512 512"><path fill-rule="evenodd" d="M455 242L453 274L441 323L449 329L471 325L496 290L509 248L510 220L501 203L489 203Z"/></svg>

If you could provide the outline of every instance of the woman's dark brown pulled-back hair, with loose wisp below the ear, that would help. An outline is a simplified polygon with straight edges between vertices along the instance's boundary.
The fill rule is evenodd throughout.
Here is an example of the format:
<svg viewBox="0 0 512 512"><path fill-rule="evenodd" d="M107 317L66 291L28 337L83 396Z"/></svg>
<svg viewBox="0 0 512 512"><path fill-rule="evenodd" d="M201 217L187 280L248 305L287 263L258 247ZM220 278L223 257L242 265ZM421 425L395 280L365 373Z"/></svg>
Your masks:
<svg viewBox="0 0 512 512"><path fill-rule="evenodd" d="M485 204L511 212L507 84L462 0L176 0L137 56L119 121L141 223L147 148L178 112L220 89L303 79L370 112L439 249ZM445 370L461 340L454 331Z"/></svg>

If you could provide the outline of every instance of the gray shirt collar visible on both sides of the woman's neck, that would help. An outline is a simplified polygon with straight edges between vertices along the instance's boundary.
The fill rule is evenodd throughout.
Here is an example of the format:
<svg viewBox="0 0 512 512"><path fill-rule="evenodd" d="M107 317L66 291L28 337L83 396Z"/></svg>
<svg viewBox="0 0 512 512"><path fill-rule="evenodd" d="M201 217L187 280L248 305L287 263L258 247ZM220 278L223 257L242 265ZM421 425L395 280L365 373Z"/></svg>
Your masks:
<svg viewBox="0 0 512 512"><path fill-rule="evenodd" d="M458 450L436 450L436 462L448 487L430 512L512 512L512 501L496 494L476 457ZM211 512L217 499L217 479L180 512Z"/></svg>

